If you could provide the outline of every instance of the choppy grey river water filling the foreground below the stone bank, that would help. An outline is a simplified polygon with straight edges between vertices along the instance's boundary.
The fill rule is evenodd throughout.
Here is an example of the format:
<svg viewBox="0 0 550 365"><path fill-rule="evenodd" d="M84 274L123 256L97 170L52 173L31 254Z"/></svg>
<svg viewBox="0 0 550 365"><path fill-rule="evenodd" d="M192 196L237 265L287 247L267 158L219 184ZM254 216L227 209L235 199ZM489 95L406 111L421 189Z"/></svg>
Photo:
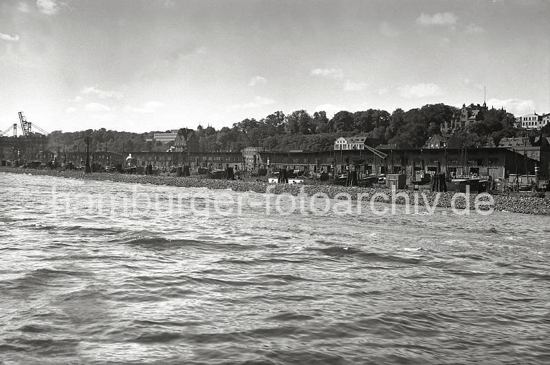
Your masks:
<svg viewBox="0 0 550 365"><path fill-rule="evenodd" d="M0 192L6 364L550 362L548 217L281 216L270 195L3 173ZM195 212L89 203L136 192Z"/></svg>

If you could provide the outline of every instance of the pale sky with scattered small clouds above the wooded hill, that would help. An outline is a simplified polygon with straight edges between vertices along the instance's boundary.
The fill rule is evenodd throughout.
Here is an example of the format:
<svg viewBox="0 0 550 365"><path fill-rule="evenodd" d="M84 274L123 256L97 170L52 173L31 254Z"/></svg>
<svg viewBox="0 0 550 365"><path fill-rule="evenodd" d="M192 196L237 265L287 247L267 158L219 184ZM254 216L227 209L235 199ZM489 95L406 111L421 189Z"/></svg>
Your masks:
<svg viewBox="0 0 550 365"><path fill-rule="evenodd" d="M0 129L232 126L274 111L550 112L550 0L0 0Z"/></svg>

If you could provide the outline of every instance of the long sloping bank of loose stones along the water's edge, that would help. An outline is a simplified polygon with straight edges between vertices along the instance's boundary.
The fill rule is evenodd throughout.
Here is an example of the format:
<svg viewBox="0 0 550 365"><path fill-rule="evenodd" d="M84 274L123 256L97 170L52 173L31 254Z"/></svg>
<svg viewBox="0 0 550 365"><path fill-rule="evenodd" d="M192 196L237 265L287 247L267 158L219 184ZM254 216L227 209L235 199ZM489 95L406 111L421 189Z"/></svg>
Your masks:
<svg viewBox="0 0 550 365"><path fill-rule="evenodd" d="M18 173L29 175L47 175L54 177L67 177L73 179L85 179L96 181L117 181L130 184L155 184L166 186L179 186L182 188L209 188L209 189L231 189L243 192L270 192L272 194L289 194L298 196L305 194L307 197L329 197L333 199L362 199L363 201L375 201L380 203L392 203L395 200L399 204L415 204L421 206L438 206L441 208L463 209L467 206L463 194L455 192L428 192L417 190L397 190L395 198L392 198L392 191L384 188L352 188L332 185L302 185L302 184L274 184L270 185L263 181L241 181L241 180L219 180L219 179L198 179L196 177L170 177L156 175L124 175L118 173L91 173L84 174L82 171L61 171L61 170L32 170L23 168L0 168L3 173ZM456 197L455 197L456 195ZM519 197L506 195L492 195L494 203L489 206L481 206L481 210L494 210L525 213L525 214L546 214L550 215L550 199L537 197ZM478 197L470 194L470 209L476 206L478 201L489 201L488 195Z"/></svg>

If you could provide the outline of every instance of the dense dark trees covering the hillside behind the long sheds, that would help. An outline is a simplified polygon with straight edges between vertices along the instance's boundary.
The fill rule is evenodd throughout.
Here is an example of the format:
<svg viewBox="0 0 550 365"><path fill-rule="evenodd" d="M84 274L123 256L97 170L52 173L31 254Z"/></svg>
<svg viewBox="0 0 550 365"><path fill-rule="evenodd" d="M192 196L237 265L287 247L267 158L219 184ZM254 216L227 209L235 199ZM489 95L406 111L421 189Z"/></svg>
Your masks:
<svg viewBox="0 0 550 365"><path fill-rule="evenodd" d="M309 151L327 151L340 136L364 135L380 139L401 148L423 146L431 135L441 133L445 121L453 120L460 109L445 104L428 104L421 108L395 109L392 113L382 109L366 111L339 111L332 118L325 111L313 114L297 110L286 114L276 111L260 120L245 119L231 127L214 129L199 125L195 130L201 151L240 151L256 146L270 151L288 151L299 148ZM550 131L542 131L548 135ZM146 142L153 133L108 131L104 128L79 132L50 134L50 151L84 151L84 139L92 138L91 151L128 153L131 151L166 151L168 144ZM525 133L514 128L514 115L503 109L479 112L476 121L456 133L465 147L481 147L489 137L498 141ZM539 132L530 132L540 133Z"/></svg>

